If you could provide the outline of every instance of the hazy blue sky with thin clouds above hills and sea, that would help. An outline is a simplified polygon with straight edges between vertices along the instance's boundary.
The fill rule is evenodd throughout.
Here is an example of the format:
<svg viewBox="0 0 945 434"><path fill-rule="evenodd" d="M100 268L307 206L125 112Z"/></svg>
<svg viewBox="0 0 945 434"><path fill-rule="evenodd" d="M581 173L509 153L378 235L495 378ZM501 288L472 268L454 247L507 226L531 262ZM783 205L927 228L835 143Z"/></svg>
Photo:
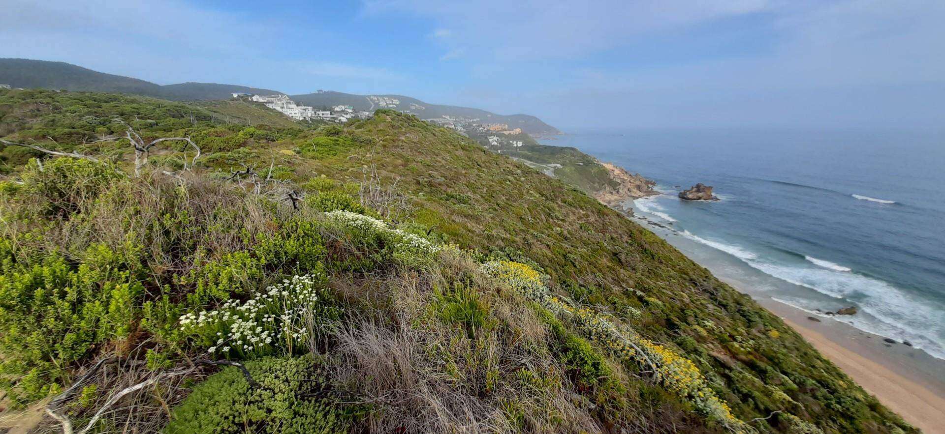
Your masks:
<svg viewBox="0 0 945 434"><path fill-rule="evenodd" d="M942 0L5 0L0 58L578 127L941 128Z"/></svg>

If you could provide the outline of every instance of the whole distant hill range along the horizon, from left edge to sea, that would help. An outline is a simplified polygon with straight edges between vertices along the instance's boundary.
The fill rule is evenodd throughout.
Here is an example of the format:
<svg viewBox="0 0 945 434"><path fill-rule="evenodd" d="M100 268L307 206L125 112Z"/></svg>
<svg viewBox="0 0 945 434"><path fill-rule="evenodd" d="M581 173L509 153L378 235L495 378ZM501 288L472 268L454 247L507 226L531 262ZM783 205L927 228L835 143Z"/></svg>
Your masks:
<svg viewBox="0 0 945 434"><path fill-rule="evenodd" d="M176 101L224 100L233 92L277 94L269 89L250 88L231 84L180 83L159 85L122 75L99 73L70 63L27 58L0 58L0 84L14 88L44 88L67 91L134 93ZM382 107L371 102L369 96L398 100L394 106ZM557 128L527 114L501 115L482 109L441 106L425 103L404 95L355 95L342 92L316 92L292 95L296 102L313 107L352 106L357 110L397 109L415 114L421 119L463 117L479 119L484 124L507 124L522 128L529 134L558 134Z"/></svg>

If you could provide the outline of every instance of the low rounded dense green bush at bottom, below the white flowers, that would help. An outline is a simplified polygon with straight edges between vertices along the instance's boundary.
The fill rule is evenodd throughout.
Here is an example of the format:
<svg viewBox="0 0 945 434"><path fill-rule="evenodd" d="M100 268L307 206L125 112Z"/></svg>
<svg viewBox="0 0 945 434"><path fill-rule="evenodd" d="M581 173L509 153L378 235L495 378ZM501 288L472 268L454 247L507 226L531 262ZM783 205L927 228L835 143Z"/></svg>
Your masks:
<svg viewBox="0 0 945 434"><path fill-rule="evenodd" d="M339 405L311 397L318 365L309 358L266 358L246 367L260 387L250 387L235 367L208 377L171 411L168 434L342 433Z"/></svg>

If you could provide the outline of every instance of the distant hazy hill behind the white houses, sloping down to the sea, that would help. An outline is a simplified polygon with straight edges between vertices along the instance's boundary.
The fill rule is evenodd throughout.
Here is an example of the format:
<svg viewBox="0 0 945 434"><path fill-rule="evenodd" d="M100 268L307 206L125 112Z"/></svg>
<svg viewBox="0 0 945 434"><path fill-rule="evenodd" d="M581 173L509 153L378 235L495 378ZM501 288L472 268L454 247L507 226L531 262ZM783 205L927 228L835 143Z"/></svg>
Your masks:
<svg viewBox="0 0 945 434"><path fill-rule="evenodd" d="M369 97L385 97L396 99L398 104L379 106ZM522 128L522 131L529 134L558 134L558 128L547 125L541 119L527 114L495 114L483 109L472 109L468 107L443 106L438 104L425 103L417 98L411 98L404 95L376 94L376 95L355 95L343 92L316 92L302 95L291 95L297 103L313 107L332 107L332 106L352 106L355 110L374 110L374 109L397 109L405 113L417 115L421 119L440 118L444 115L450 117L463 117L479 119L483 124L507 124L509 128Z"/></svg>

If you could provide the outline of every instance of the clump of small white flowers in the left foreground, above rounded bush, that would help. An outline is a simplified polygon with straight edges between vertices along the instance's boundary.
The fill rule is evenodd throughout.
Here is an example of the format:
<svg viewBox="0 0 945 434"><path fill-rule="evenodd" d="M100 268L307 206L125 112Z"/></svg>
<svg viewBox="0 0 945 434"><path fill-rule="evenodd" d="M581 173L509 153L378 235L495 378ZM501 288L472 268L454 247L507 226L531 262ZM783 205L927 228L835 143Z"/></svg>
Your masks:
<svg viewBox="0 0 945 434"><path fill-rule="evenodd" d="M211 345L207 352L228 356L262 355L276 347L291 351L304 342L318 314L320 275L296 275L253 292L245 302L230 300L219 309L180 316L180 328Z"/></svg>

